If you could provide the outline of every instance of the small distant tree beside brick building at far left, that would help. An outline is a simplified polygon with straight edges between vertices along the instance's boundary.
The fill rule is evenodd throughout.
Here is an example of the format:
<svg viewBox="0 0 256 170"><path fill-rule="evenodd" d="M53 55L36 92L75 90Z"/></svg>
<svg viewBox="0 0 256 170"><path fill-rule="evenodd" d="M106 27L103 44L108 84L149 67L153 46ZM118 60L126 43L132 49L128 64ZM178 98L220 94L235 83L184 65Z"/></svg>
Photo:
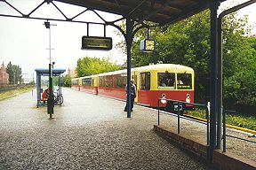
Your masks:
<svg viewBox="0 0 256 170"><path fill-rule="evenodd" d="M10 61L6 67L6 72L9 74L9 82L11 84L18 84L18 81L21 82L22 71L20 66L12 65L12 62Z"/></svg>

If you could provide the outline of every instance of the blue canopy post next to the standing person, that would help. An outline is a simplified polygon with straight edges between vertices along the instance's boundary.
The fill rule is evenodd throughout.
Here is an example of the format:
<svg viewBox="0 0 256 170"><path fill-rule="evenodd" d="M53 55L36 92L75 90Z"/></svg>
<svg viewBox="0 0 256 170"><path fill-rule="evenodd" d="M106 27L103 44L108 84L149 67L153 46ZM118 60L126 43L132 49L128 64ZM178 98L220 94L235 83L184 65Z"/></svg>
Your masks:
<svg viewBox="0 0 256 170"><path fill-rule="evenodd" d="M131 50L132 50L132 19L126 19L127 46L127 118L131 118Z"/></svg>

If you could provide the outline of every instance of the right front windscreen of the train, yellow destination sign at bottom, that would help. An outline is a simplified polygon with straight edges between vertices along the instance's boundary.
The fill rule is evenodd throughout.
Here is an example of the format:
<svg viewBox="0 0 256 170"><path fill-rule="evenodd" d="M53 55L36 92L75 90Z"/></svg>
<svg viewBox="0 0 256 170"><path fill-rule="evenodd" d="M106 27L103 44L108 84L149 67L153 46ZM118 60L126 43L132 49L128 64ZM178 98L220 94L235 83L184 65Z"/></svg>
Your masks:
<svg viewBox="0 0 256 170"><path fill-rule="evenodd" d="M177 73L177 88L178 89L192 89L192 74L191 73Z"/></svg>

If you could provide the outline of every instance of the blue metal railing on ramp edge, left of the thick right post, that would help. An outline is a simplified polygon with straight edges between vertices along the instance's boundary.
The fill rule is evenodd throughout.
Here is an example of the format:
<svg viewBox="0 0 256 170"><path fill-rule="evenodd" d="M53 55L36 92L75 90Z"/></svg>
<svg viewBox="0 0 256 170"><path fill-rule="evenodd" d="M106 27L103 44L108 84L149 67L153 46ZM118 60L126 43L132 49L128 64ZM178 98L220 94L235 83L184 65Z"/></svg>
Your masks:
<svg viewBox="0 0 256 170"><path fill-rule="evenodd" d="M203 122L203 121L199 121L199 120L194 120L194 119L191 119L191 118L188 118L188 117L181 117L182 119L184 120L192 120L192 121L195 121L197 123L201 123L201 124L206 124L206 132L207 132L207 145L209 145L209 140L210 140L210 126L209 126L209 115L210 115L210 103L208 102L208 104L195 104L195 103L188 103L188 102L183 102L183 101L178 101L178 100L171 100L171 99L165 99L165 98L158 98L158 103L157 103L157 109L158 109L158 126L160 126L160 102L161 100L165 100L168 104L168 101L169 102L172 102L173 103L176 103L177 104L177 115L175 114L172 114L172 113L169 113L169 112L162 112L164 114L169 114L169 115L172 115L172 116L176 116L178 117L177 119L177 132L178 134L180 134L180 104L192 104L192 105L195 105L195 106L200 106L200 107L203 107L206 111L206 123Z"/></svg>

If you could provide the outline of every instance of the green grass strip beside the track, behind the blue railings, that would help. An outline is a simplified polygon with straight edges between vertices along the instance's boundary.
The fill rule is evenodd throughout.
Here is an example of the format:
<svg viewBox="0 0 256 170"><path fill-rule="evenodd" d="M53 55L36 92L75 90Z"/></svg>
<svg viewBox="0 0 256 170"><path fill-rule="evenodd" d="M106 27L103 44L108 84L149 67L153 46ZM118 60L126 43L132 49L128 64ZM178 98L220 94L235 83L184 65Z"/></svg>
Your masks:
<svg viewBox="0 0 256 170"><path fill-rule="evenodd" d="M187 115L206 119L206 112L202 109L196 108L193 111L187 111ZM227 113L226 123L240 128L248 128L256 131L256 116L238 115Z"/></svg>

